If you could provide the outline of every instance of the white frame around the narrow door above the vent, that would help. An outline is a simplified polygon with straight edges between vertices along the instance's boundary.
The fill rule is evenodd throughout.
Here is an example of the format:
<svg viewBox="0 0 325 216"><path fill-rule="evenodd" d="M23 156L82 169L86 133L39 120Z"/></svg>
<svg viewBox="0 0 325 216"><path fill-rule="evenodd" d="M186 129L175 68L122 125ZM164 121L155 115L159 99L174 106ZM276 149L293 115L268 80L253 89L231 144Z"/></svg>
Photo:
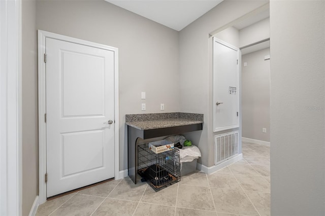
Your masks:
<svg viewBox="0 0 325 216"><path fill-rule="evenodd" d="M213 66L212 66L212 68L213 68L213 73L212 73L212 76L213 76L213 92L212 92L212 98L213 98L213 132L218 132L218 131L223 131L223 130L228 130L228 129L233 129L233 128L239 128L240 127L240 118L241 118L241 109L240 109L240 103L239 103L239 101L240 101L240 95L241 95L241 89L240 89L240 65L241 65L241 52L240 52L240 49L239 48L237 48L237 47L235 47L235 46L233 46L233 45L231 45L231 44L229 44L229 43L226 43L226 42L224 42L224 41L222 41L222 40L220 40L220 39L218 39L218 38L216 38L216 37L213 37L213 51L214 51L214 49L215 49L215 43L219 43L219 44L222 44L222 45L224 45L224 46L226 46L226 47L229 47L229 48L231 48L231 49L233 49L233 50L236 50L237 51L237 60L238 60L238 63L237 63L237 92L238 92L238 97L237 97L237 107L238 107L238 124L237 125L232 125L232 126L226 126L226 127L221 127L221 128L216 128L215 127L215 122L214 122L214 116L215 116L215 109L216 109L216 101L215 101L215 91L216 91L216 83L215 83L215 61L214 61L214 56L212 57L213 59L212 59L212 61L213 61Z"/></svg>

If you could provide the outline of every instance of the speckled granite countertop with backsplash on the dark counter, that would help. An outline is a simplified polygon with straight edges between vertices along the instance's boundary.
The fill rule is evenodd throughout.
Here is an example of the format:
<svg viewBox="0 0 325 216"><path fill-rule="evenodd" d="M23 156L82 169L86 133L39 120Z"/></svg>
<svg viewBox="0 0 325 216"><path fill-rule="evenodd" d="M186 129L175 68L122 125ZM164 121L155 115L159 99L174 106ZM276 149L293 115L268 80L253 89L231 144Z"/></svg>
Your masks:
<svg viewBox="0 0 325 216"><path fill-rule="evenodd" d="M152 113L125 115L125 124L140 130L176 127L203 123L203 114Z"/></svg>

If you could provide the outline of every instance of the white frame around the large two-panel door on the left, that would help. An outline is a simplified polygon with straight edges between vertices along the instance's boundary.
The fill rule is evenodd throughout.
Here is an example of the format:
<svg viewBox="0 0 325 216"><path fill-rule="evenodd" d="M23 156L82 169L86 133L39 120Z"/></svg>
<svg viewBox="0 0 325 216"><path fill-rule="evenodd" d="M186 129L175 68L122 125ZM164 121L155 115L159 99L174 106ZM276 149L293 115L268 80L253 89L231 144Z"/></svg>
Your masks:
<svg viewBox="0 0 325 216"><path fill-rule="evenodd" d="M97 44L89 41L75 39L64 35L51 33L48 31L38 30L38 67L39 67L39 203L42 204L46 201L46 124L45 124L45 111L46 111L46 64L44 62L45 53L45 40L52 38L76 44L86 45L90 47L106 49L114 52L114 136L115 136L115 167L114 177L119 178L119 113L118 113L118 49L102 44Z"/></svg>

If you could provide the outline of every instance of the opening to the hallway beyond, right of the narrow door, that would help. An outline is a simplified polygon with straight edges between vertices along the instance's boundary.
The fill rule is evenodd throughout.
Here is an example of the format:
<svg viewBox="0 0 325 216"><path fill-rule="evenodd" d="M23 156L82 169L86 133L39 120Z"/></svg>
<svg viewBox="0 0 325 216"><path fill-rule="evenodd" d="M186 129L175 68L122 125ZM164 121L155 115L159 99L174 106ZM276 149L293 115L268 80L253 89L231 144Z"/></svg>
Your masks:
<svg viewBox="0 0 325 216"><path fill-rule="evenodd" d="M210 36L241 51L239 153L243 153L243 161L263 169L263 176L270 181L269 4L215 30Z"/></svg>

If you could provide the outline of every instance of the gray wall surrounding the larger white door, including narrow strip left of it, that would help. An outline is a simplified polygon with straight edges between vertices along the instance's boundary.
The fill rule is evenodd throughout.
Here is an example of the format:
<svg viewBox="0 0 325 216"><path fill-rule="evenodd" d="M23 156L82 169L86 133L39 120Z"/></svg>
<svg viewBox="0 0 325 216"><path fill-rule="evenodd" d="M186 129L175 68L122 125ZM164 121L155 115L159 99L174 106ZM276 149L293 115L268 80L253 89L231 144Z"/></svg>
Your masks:
<svg viewBox="0 0 325 216"><path fill-rule="evenodd" d="M38 195L37 29L119 48L120 170L125 114L179 112L178 32L104 1L22 2L23 215ZM147 99L141 100L141 92ZM141 111L141 103L147 111Z"/></svg>

